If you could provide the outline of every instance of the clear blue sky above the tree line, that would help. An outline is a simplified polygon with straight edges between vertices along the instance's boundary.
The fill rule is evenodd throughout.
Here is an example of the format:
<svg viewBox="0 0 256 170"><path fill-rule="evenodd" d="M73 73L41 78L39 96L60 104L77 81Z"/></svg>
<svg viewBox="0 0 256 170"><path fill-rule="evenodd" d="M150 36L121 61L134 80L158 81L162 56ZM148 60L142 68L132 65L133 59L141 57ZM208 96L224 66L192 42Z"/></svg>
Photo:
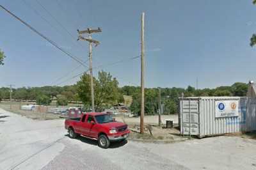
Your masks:
<svg viewBox="0 0 256 170"><path fill-rule="evenodd" d="M256 47L250 47L256 6L250 0L0 0L0 4L83 61L88 59L88 43L76 41L76 30L100 27L102 33L92 35L100 41L93 47L93 75L110 72L119 86L140 86L140 58L131 58L140 56L142 12L146 87L186 88L196 86L196 79L198 88L256 81ZM75 84L79 77L71 78L88 69L4 10L0 22L0 49L6 55L0 87Z"/></svg>

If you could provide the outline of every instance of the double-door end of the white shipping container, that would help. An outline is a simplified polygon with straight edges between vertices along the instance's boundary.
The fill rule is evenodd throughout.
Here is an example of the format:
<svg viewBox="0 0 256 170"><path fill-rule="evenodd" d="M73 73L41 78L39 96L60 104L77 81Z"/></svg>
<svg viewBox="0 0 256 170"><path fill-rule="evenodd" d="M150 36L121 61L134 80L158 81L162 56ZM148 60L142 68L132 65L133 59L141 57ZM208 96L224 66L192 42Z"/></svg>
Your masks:
<svg viewBox="0 0 256 170"><path fill-rule="evenodd" d="M182 100L182 132L184 135L199 134L199 101Z"/></svg>

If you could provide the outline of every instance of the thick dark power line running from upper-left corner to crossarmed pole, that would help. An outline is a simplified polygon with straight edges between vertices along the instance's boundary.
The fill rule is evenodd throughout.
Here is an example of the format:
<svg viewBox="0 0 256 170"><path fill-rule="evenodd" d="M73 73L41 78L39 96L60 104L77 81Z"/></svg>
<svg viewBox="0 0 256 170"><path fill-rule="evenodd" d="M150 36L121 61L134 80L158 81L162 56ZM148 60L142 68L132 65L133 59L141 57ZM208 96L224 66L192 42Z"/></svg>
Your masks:
<svg viewBox="0 0 256 170"><path fill-rule="evenodd" d="M72 56L69 52L67 52L66 50L62 49L60 46L58 46L57 43L53 42L52 40L50 40L49 38L47 38L46 36L42 35L42 33L38 32L35 28L33 28L32 26L30 26L28 23L26 23L24 20L20 19L19 17L17 17L15 14L13 14L12 12L10 12L9 10L7 10L6 8L4 8L4 6L2 6L0 4L0 7L3 8L3 10L5 10L7 13L9 13L10 15L12 15L15 19L19 20L20 22L22 22L22 24L24 24L25 26L29 27L29 29L31 29L32 31L34 31L37 35L41 36L42 38L44 38L45 40L47 40L47 42L51 43L52 45L54 45L54 47L56 47L57 49L61 50L61 52L63 52L64 54L66 54L67 56L69 56L70 58L74 59L75 61L77 61L77 63L80 63L81 65L88 67L86 65L84 65L83 62L79 61L79 59L77 59L76 56Z"/></svg>

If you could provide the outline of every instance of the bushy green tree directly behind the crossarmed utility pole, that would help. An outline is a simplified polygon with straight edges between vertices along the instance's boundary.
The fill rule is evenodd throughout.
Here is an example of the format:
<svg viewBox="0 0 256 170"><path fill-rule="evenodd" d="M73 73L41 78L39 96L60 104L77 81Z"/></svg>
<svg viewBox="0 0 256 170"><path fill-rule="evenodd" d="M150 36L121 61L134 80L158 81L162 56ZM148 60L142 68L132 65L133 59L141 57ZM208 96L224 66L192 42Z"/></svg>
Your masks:
<svg viewBox="0 0 256 170"><path fill-rule="evenodd" d="M98 79L93 77L95 111L102 111L104 105L117 104L118 81L112 78L110 73L101 71ZM84 105L92 105L90 75L84 73L81 80L77 82L77 92Z"/></svg>

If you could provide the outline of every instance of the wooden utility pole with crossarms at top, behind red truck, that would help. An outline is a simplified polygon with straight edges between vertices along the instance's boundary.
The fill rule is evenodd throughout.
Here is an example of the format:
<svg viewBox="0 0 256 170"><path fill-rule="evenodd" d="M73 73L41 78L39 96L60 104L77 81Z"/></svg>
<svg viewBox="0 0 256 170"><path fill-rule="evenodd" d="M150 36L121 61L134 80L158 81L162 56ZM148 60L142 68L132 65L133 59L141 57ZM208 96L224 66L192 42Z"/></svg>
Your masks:
<svg viewBox="0 0 256 170"><path fill-rule="evenodd" d="M95 112L95 107L94 107L94 89L93 89L93 73L92 73L92 43L95 44L95 47L100 44L100 42L93 40L92 39L92 33L100 33L101 29L98 27L98 29L90 29L87 28L87 30L84 31L79 31L78 32L78 40L84 40L89 42L89 61L90 61L90 81L91 81L91 97L92 97L92 112ZM89 38L84 38L82 34L88 34Z"/></svg>

